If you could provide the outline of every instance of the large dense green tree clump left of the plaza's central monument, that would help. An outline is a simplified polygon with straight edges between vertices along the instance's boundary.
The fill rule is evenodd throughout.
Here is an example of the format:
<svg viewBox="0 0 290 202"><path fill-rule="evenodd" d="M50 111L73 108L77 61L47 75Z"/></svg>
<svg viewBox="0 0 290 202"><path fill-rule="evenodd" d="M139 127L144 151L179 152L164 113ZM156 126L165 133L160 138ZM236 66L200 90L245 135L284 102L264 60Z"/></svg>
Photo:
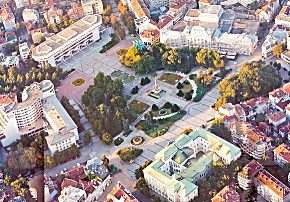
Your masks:
<svg viewBox="0 0 290 202"><path fill-rule="evenodd" d="M128 128L129 121L132 121L130 110L122 96L123 88L121 80L113 81L110 76L99 72L94 85L82 96L82 102L86 106L85 116L93 125L93 132L107 144L112 142L112 136Z"/></svg>

